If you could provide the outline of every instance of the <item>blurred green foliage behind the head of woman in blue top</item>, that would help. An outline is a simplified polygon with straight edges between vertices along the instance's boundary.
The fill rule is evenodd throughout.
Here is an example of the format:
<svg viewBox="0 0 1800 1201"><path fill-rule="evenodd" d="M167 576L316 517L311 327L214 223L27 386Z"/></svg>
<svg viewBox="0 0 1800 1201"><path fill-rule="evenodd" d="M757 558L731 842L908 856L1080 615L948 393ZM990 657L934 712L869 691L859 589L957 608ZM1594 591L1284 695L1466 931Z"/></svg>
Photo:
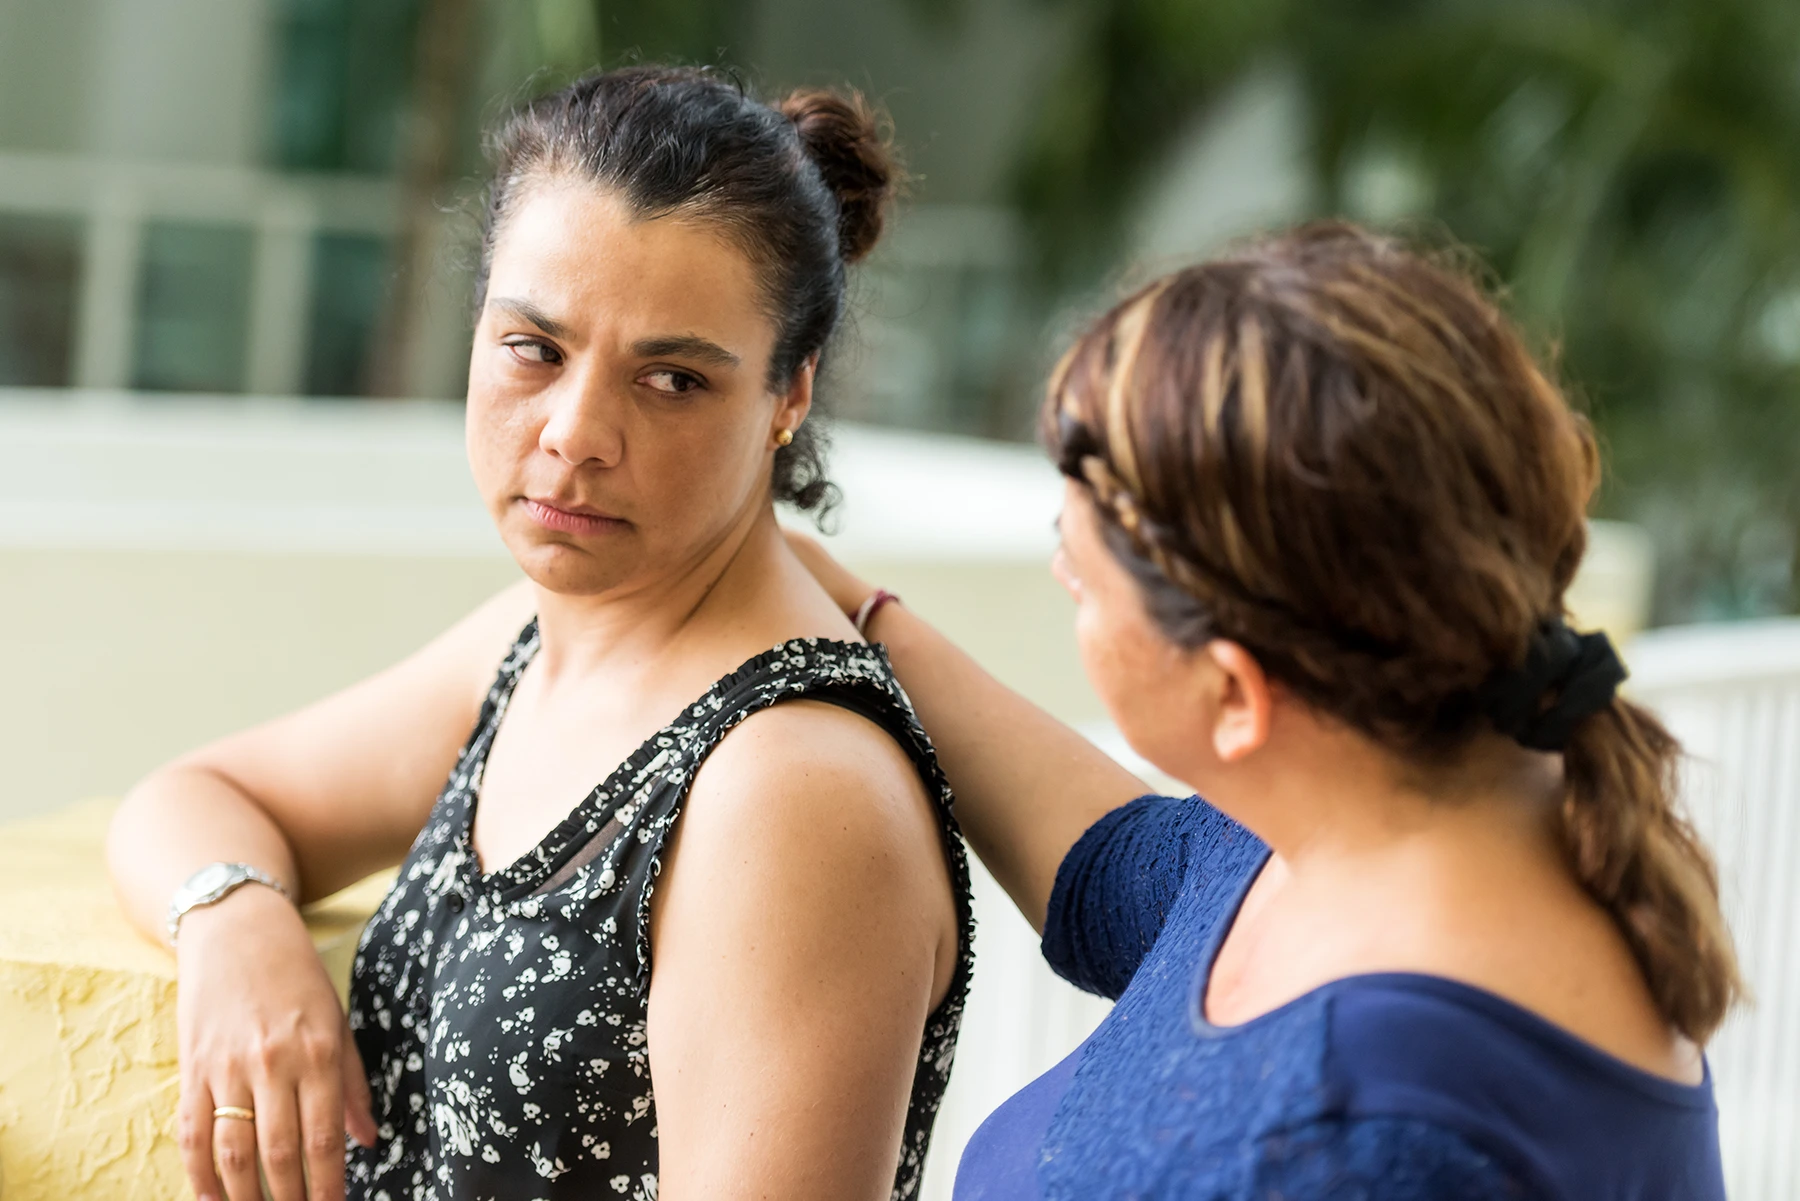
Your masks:
<svg viewBox="0 0 1800 1201"><path fill-rule="evenodd" d="M1080 32L1017 194L1055 288L1246 70L1292 68L1314 207L1429 218L1562 351L1661 618L1800 607L1800 4L1044 0Z"/></svg>

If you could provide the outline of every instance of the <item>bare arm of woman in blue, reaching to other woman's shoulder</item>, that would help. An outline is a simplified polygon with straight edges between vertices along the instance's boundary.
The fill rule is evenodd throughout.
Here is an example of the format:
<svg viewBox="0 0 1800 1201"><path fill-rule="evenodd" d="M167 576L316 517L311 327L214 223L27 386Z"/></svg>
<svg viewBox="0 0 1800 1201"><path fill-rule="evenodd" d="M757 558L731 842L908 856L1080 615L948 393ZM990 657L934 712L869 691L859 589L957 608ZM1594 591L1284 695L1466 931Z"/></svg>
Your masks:
<svg viewBox="0 0 1800 1201"><path fill-rule="evenodd" d="M875 591L815 540L788 533L788 542L846 612ZM1143 794L1143 781L902 605L877 612L868 636L887 645L938 747L968 844L1042 931L1057 868L1075 839Z"/></svg>

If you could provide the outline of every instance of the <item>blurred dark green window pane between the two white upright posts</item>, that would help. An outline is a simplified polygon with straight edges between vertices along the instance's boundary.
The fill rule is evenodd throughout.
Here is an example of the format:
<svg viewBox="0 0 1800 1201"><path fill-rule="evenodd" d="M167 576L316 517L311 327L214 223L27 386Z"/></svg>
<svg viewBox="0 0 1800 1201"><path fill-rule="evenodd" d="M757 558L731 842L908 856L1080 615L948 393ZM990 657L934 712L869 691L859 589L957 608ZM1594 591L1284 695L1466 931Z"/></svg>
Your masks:
<svg viewBox="0 0 1800 1201"><path fill-rule="evenodd" d="M241 393L250 326L250 230L155 221L144 227L131 385Z"/></svg>

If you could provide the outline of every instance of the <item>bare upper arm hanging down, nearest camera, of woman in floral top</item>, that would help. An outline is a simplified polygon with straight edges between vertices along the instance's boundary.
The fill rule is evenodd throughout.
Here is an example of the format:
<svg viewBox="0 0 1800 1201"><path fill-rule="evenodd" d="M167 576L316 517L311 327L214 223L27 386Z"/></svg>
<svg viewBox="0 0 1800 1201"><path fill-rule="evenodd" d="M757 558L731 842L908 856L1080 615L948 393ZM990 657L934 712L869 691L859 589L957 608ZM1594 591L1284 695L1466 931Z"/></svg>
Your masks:
<svg viewBox="0 0 1800 1201"><path fill-rule="evenodd" d="M810 702L713 753L653 911L662 1201L891 1194L920 1039L956 971L923 787Z"/></svg>

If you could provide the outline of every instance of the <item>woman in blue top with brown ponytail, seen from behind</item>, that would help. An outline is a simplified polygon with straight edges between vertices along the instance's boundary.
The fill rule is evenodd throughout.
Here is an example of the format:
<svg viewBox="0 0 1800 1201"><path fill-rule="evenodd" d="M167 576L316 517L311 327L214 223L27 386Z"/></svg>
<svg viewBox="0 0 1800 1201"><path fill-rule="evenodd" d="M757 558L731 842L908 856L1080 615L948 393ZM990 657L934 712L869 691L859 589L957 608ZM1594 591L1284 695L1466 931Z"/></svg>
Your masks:
<svg viewBox="0 0 1800 1201"><path fill-rule="evenodd" d="M1206 799L1132 801L877 605L970 843L1118 998L958 1201L1723 1199L1714 870L1678 745L1564 625L1595 441L1494 303L1303 229L1102 317L1044 425L1087 673Z"/></svg>

